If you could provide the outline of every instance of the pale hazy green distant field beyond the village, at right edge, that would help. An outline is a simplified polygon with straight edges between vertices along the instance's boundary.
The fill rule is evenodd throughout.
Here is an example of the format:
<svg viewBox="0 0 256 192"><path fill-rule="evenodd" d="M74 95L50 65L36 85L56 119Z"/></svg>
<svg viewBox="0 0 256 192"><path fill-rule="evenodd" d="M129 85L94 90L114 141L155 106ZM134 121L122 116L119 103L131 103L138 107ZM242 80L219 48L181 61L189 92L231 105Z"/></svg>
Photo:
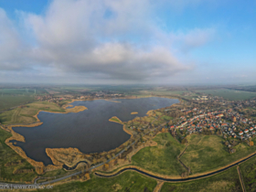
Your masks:
<svg viewBox="0 0 256 192"><path fill-rule="evenodd" d="M206 94L211 94L213 96L223 97L224 99L228 100L250 100L251 98L256 97L256 92L249 92L249 91L235 91L235 90L227 90L227 89L220 89L220 90L204 90L198 91L204 92Z"/></svg>

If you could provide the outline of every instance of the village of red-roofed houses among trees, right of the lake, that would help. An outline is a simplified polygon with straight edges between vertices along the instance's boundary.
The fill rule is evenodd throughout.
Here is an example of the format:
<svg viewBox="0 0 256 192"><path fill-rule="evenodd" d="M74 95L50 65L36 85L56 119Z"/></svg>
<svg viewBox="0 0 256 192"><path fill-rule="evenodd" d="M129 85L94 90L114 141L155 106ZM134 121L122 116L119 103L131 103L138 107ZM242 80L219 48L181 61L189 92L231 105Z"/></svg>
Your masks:
<svg viewBox="0 0 256 192"><path fill-rule="evenodd" d="M229 153L234 153L234 141L253 145L252 137L256 134L256 122L243 117L233 109L210 111L193 108L181 110L185 115L178 118L176 124L169 127L170 133L177 138L186 138L189 134L218 134L228 142ZM231 138L231 140L230 140ZM180 139L182 141L182 139ZM186 139L185 139L186 140ZM186 142L186 141L185 141ZM184 143L185 143L184 142Z"/></svg>

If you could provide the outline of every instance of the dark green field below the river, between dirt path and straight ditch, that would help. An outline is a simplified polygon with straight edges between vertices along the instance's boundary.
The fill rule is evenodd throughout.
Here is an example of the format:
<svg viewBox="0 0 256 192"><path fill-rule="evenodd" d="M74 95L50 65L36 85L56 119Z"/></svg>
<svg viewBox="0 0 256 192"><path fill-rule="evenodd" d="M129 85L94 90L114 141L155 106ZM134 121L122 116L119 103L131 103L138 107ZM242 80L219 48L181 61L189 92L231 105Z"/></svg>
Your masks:
<svg viewBox="0 0 256 192"><path fill-rule="evenodd" d="M161 192L242 192L236 167L219 175L186 183L165 183Z"/></svg>

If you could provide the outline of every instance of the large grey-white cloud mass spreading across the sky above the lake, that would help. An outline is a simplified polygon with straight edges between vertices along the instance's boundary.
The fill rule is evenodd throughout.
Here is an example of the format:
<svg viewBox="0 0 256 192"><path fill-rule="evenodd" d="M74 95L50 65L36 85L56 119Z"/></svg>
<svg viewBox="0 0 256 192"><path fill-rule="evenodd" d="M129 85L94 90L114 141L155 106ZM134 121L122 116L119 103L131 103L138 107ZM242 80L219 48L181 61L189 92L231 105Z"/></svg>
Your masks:
<svg viewBox="0 0 256 192"><path fill-rule="evenodd" d="M153 12L150 0L54 0L43 15L19 12L36 42L29 44L0 9L0 37L7 39L0 45L0 70L153 81L192 69L176 58L166 38L187 51L207 43L214 30L167 34Z"/></svg>

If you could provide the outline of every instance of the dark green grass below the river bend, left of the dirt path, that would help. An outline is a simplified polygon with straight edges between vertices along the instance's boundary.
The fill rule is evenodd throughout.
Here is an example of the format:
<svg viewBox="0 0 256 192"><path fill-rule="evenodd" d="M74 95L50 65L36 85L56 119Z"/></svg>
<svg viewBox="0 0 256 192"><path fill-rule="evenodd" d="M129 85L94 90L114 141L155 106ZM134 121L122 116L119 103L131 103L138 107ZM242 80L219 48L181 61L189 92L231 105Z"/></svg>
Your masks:
<svg viewBox="0 0 256 192"><path fill-rule="evenodd" d="M112 192L112 191L153 191L156 186L155 179L142 176L136 172L126 171L120 176L112 178L101 178L91 174L91 179L85 182L71 182L53 189L45 189L38 191L76 191L76 192Z"/></svg>

